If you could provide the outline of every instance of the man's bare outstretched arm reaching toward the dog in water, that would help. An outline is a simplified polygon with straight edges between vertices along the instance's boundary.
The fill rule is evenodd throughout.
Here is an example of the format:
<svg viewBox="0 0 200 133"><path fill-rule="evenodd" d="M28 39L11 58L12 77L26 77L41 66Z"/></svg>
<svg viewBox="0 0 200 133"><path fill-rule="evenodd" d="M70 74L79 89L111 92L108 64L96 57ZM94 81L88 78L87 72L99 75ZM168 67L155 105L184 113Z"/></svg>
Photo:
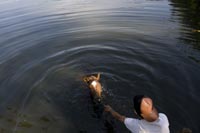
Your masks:
<svg viewBox="0 0 200 133"><path fill-rule="evenodd" d="M125 116L119 114L118 112L116 112L115 110L112 109L112 107L110 107L109 105L105 105L105 111L106 112L110 112L111 115L116 118L117 120L124 122L125 120Z"/></svg>

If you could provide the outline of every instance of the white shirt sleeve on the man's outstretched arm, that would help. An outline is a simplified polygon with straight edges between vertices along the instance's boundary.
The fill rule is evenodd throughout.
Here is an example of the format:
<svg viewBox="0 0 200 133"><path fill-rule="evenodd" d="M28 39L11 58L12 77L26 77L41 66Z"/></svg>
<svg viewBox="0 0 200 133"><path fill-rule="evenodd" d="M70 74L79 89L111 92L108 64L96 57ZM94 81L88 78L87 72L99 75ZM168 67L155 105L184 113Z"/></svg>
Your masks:
<svg viewBox="0 0 200 133"><path fill-rule="evenodd" d="M124 124L132 133L138 132L138 120L137 119L125 118Z"/></svg>

